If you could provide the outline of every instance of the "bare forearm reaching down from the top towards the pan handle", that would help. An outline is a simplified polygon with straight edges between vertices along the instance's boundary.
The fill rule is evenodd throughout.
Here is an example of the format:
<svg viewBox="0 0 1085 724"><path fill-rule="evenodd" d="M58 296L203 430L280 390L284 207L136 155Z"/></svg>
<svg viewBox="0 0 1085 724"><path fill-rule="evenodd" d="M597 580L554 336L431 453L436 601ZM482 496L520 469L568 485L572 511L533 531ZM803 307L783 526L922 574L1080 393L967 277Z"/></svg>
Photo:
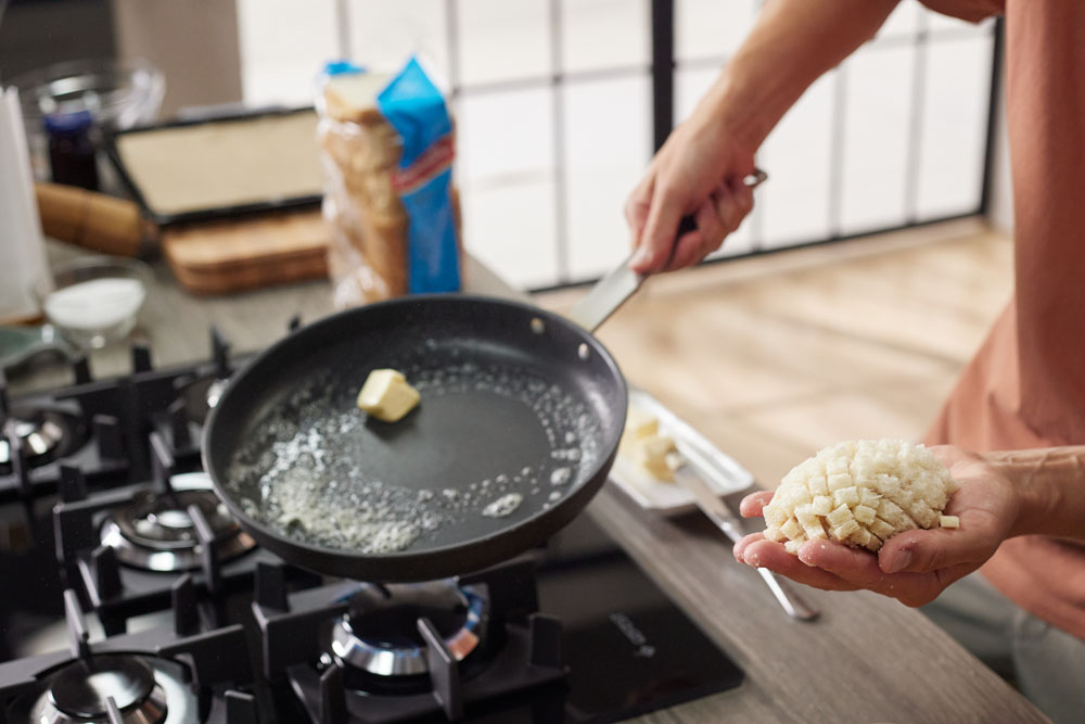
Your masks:
<svg viewBox="0 0 1085 724"><path fill-rule="evenodd" d="M701 101L746 148L761 145L821 74L869 40L898 0L770 0Z"/></svg>

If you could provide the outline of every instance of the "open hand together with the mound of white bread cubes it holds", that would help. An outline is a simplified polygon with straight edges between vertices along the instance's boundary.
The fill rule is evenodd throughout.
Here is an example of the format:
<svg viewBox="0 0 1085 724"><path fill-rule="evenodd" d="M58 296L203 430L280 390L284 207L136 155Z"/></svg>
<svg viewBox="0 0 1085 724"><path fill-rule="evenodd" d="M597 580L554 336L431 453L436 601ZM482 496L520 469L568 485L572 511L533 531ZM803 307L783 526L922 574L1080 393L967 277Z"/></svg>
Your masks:
<svg viewBox="0 0 1085 724"><path fill-rule="evenodd" d="M850 481L830 484L845 470ZM922 606L995 552L1019 505L995 462L957 447L841 443L796 466L776 493L742 500L742 516L764 516L767 528L736 544L735 557L826 590Z"/></svg>

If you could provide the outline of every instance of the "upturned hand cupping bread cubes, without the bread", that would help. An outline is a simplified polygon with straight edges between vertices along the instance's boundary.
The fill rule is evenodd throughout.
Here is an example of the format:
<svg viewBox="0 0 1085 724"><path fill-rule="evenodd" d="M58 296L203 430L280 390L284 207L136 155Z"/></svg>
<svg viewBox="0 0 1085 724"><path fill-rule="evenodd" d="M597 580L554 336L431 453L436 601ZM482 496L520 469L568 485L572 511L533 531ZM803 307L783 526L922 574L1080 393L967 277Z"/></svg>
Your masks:
<svg viewBox="0 0 1085 724"><path fill-rule="evenodd" d="M908 606L929 604L994 555L1020 507L1013 484L997 466L950 445L930 449L960 485L945 509L960 519L960 528L907 531L886 541L877 555L835 541L807 541L797 557L754 533L735 544L735 558L826 590L866 588ZM748 495L740 512L761 516L771 497L768 491Z"/></svg>

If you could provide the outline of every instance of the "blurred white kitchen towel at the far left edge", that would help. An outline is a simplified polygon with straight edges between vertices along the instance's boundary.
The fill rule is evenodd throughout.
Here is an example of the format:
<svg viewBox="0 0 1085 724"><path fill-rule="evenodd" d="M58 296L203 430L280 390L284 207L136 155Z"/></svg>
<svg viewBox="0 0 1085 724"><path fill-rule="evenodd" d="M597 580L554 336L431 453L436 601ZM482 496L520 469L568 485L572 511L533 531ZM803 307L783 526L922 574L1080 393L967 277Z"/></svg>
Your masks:
<svg viewBox="0 0 1085 724"><path fill-rule="evenodd" d="M0 322L37 317L49 278L18 91L0 89Z"/></svg>

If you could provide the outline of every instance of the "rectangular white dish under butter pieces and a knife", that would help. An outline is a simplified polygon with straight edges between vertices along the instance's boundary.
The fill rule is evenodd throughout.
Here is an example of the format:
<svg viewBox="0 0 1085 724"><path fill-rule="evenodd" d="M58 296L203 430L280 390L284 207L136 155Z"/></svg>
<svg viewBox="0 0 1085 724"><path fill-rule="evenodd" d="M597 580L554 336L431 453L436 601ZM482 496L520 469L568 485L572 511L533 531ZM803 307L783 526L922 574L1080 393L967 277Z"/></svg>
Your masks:
<svg viewBox="0 0 1085 724"><path fill-rule="evenodd" d="M717 494L738 493L753 485L753 473L647 392L630 390L629 406L640 408L659 419L660 432L675 441L678 452ZM611 468L610 479L637 505L661 515L678 515L697 507L692 494L674 483L656 481L621 453Z"/></svg>

